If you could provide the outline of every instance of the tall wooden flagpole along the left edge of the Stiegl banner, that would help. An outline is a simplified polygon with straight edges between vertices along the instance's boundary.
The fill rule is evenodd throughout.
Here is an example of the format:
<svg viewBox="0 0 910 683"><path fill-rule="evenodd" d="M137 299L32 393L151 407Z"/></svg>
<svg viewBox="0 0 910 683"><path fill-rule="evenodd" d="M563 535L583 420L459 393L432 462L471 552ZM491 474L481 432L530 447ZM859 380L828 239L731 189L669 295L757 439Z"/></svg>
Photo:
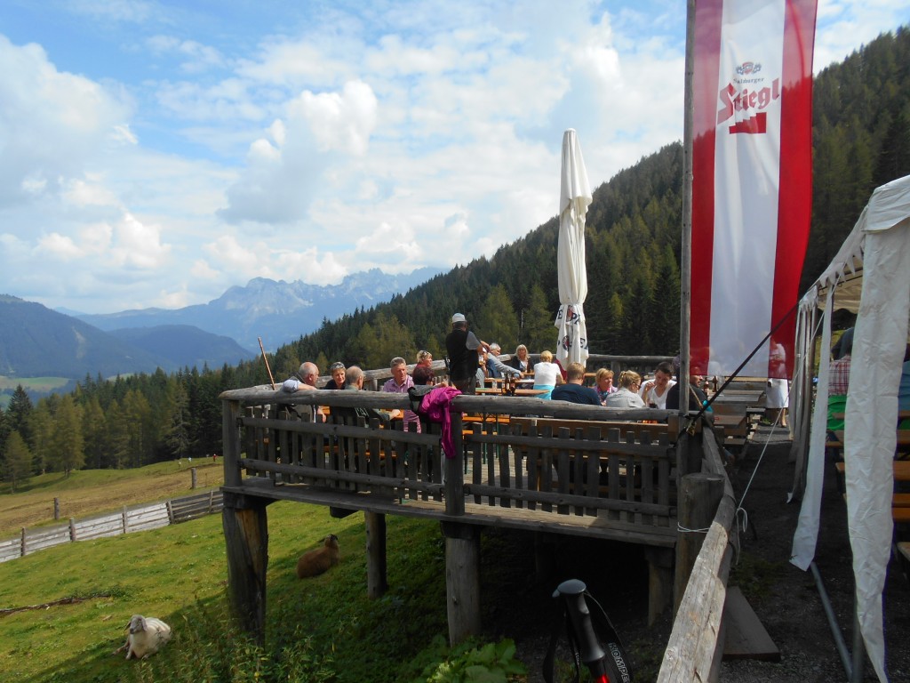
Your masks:
<svg viewBox="0 0 910 683"><path fill-rule="evenodd" d="M692 178L694 125L695 0L686 2L685 84L682 124L682 250L680 264L680 415L689 412L690 328L692 311Z"/></svg>

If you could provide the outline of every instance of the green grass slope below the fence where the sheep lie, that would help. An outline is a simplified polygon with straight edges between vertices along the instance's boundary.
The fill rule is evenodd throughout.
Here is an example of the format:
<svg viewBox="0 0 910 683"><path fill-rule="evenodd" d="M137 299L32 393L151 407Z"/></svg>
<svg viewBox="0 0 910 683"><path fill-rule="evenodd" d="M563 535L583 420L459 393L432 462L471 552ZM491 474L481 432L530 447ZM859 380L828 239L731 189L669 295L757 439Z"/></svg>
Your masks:
<svg viewBox="0 0 910 683"><path fill-rule="evenodd" d="M445 633L439 525L389 517L393 587L375 601L366 596L362 515L337 520L322 506L279 502L268 507L268 531L265 648L238 634L227 617L220 515L0 564L0 608L87 597L0 617L3 680L379 683L396 680L402 662ZM339 535L341 563L298 580L298 556L329 533ZM167 647L147 661L111 654L133 614L174 628Z"/></svg>

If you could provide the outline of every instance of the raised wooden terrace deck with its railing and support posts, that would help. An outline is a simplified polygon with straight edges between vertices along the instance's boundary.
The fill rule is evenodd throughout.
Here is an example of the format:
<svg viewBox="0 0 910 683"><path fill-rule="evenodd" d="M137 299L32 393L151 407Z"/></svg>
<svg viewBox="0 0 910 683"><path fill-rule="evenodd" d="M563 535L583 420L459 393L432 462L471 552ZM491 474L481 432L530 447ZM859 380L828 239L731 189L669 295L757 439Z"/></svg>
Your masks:
<svg viewBox="0 0 910 683"><path fill-rule="evenodd" d="M260 637L266 507L277 500L365 515L369 596L387 586L385 515L404 515L440 521L447 566L475 566L490 526L650 546L649 621L672 599L677 482L701 471L702 423L685 425L680 447L677 414L653 409L458 395L447 435L439 423L418 433L350 417L351 408L410 407L401 394L258 388L221 399L228 594L241 626ZM329 423L301 409L321 404ZM479 577L447 571L447 592L451 642L478 633Z"/></svg>

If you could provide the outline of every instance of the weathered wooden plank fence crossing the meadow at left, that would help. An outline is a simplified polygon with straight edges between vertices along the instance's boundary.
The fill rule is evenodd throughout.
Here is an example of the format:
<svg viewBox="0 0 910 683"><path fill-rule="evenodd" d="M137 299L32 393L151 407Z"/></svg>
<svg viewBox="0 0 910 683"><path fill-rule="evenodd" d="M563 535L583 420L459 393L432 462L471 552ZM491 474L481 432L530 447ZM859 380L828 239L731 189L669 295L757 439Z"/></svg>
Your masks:
<svg viewBox="0 0 910 683"><path fill-rule="evenodd" d="M108 515L97 515L83 520L70 518L65 525L28 530L22 527L17 538L0 541L0 562L35 553L38 550L93 538L147 531L161 526L178 524L221 511L220 491L187 495L182 498L150 503L124 505L123 510Z"/></svg>

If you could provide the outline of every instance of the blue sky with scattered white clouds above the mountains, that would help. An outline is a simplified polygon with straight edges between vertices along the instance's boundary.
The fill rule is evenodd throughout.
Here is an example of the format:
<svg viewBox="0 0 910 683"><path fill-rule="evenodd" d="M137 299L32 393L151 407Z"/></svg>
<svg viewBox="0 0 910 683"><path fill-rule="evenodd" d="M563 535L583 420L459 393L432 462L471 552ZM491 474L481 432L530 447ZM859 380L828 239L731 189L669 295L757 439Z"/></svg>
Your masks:
<svg viewBox="0 0 910 683"><path fill-rule="evenodd" d="M910 23L819 2L814 66ZM682 138L685 3L4 0L0 293L177 308L450 268ZM555 287L555 283L554 283Z"/></svg>

